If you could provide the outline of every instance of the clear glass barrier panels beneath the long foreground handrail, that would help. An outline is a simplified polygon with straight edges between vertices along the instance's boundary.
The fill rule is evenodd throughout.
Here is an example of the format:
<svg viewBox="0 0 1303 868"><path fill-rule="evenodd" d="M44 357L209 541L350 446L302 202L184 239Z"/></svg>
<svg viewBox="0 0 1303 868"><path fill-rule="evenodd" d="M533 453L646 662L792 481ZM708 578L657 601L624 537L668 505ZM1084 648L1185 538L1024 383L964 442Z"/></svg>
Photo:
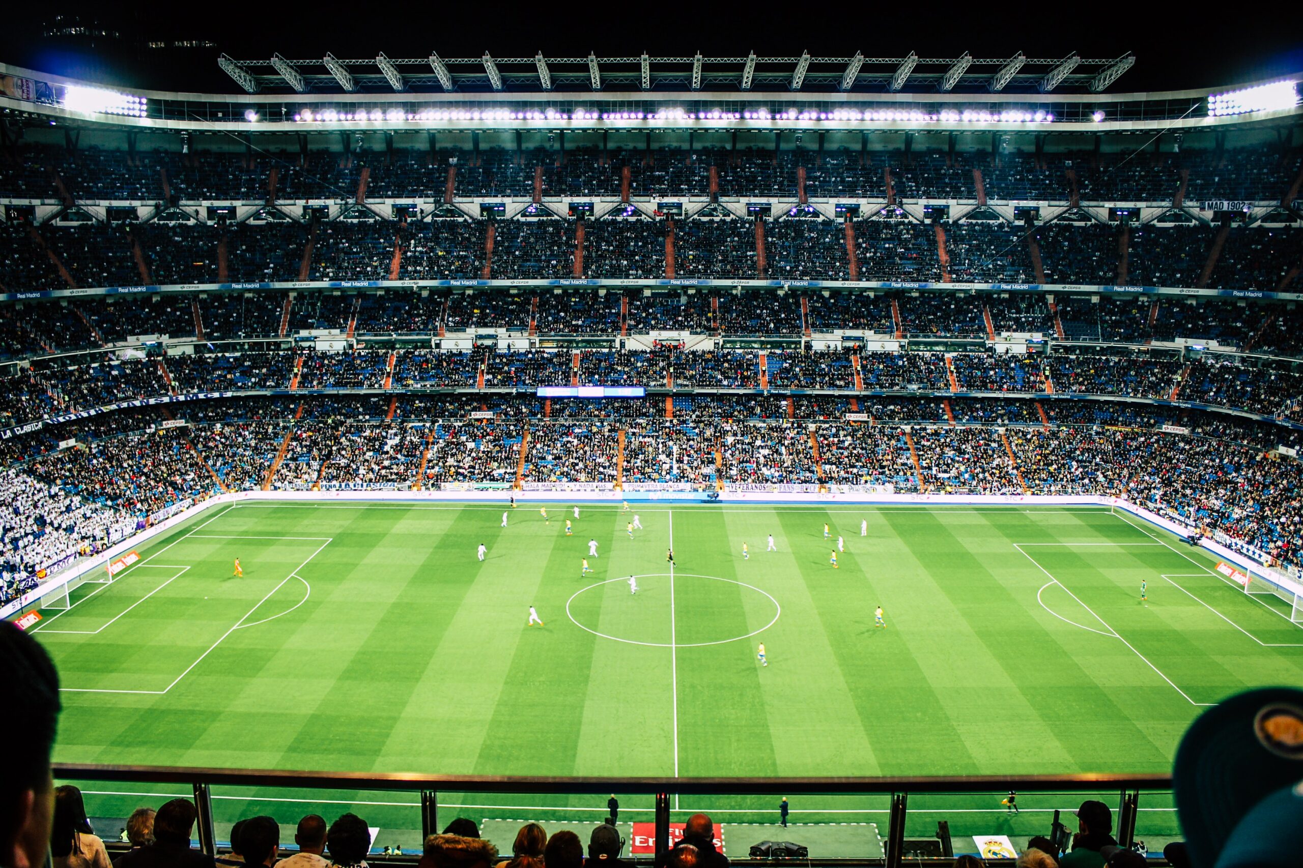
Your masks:
<svg viewBox="0 0 1303 868"><path fill-rule="evenodd" d="M547 835L572 830L585 847L593 829L610 822L622 841L620 855L650 863L658 839L659 846L672 845L684 835L691 816L705 813L714 824L715 846L734 861L855 860L894 867L929 859L952 861L964 854L994 860L1014 858L1037 835L1070 845L1078 830L1075 811L1088 799L1109 807L1114 835L1135 841L1151 856L1161 855L1162 847L1181 835L1170 790L1126 786L1140 781L1122 780L1092 786L1083 781L1038 778L1035 785L1024 781L1032 789L1019 790L1010 799L1009 790L993 786L989 778L981 780L986 786L963 778L846 780L834 787L846 791L837 793L810 791L818 785L814 781L747 781L741 787L727 780L683 780L678 782L680 789L691 793L658 794L646 789L624 791L638 781L486 778L456 782L480 789L434 790L429 787L438 783L435 778L364 776L357 789L348 789L337 777L298 778L293 773L278 774L270 785L251 785L249 778L267 773L106 766L108 780L96 780L94 766L77 766L76 772L76 776L60 774L56 769L57 782L81 787L91 824L106 842L125 841L126 817L134 809L156 809L169 799L198 795L195 846L201 846L211 829L211 841L219 851L229 848L231 828L240 819L272 817L280 825L283 847L288 848L304 816L318 815L328 825L344 813L354 813L371 829L375 856L417 858L425 835L443 832L455 819L465 819L476 824L480 837L493 842L504 859L511 858L512 842L526 822L539 824ZM1158 781L1144 781L1153 782ZM764 793L728 793L735 787ZM859 787L863 791L855 791Z"/></svg>

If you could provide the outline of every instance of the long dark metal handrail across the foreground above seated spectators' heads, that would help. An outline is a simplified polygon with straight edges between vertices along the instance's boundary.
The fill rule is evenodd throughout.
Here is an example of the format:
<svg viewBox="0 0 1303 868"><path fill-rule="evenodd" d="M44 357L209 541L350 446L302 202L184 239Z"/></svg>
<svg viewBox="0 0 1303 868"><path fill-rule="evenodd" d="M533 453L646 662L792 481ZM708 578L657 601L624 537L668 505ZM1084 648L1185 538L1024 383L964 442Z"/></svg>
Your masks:
<svg viewBox="0 0 1303 868"><path fill-rule="evenodd" d="M267 786L313 790L444 790L456 793L679 793L780 795L786 793L1003 793L1007 790L1096 793L1100 790L1170 790L1170 774L1023 774L936 777L809 777L809 778L674 778L674 777L534 777L483 774L423 774L416 772L293 772L278 769L218 769L203 766L103 765L56 763L57 780L206 783L210 786Z"/></svg>

